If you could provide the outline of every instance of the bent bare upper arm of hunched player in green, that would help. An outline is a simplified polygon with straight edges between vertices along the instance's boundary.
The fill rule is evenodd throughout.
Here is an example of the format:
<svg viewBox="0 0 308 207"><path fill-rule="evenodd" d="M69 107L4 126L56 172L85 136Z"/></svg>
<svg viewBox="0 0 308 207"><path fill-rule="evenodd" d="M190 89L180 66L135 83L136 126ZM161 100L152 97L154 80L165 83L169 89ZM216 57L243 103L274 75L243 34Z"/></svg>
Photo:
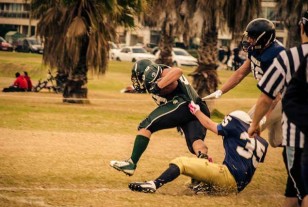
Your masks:
<svg viewBox="0 0 308 207"><path fill-rule="evenodd" d="M163 70L161 79L157 82L157 86L163 89L174 81L177 81L182 76L182 74L183 72L180 68L166 68Z"/></svg>

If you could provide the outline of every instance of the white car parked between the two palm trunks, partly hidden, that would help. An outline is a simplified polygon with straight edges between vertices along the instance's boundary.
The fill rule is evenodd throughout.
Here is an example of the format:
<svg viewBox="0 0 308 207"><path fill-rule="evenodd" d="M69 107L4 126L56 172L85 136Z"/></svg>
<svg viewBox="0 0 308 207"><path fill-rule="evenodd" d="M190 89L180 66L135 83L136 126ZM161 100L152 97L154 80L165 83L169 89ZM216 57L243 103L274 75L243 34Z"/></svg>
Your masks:
<svg viewBox="0 0 308 207"><path fill-rule="evenodd" d="M159 54L160 50L155 53L156 59L159 57ZM182 48L174 47L172 49L172 60L174 66L198 66L197 58Z"/></svg>

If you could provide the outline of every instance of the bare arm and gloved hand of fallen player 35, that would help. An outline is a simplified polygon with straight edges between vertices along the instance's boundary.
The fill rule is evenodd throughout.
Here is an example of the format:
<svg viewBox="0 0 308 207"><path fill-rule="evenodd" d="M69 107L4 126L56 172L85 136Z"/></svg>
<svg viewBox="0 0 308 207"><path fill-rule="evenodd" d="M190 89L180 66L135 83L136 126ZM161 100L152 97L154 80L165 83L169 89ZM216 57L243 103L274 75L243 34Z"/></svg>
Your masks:
<svg viewBox="0 0 308 207"><path fill-rule="evenodd" d="M192 114L194 114L200 123L210 131L218 134L217 125L218 123L212 121L209 117L207 117L202 111L200 111L200 106L195 104L193 101L189 104L189 110Z"/></svg>

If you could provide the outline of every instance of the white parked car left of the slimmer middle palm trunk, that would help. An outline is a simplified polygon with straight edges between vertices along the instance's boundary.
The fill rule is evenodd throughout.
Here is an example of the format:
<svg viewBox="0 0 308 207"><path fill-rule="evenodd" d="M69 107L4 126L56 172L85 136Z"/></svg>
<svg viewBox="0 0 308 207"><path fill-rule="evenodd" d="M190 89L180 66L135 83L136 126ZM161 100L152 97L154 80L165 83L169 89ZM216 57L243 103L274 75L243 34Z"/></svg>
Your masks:
<svg viewBox="0 0 308 207"><path fill-rule="evenodd" d="M139 46L123 47L116 53L116 60L136 62L141 59L155 60L155 56L148 53L144 48Z"/></svg>

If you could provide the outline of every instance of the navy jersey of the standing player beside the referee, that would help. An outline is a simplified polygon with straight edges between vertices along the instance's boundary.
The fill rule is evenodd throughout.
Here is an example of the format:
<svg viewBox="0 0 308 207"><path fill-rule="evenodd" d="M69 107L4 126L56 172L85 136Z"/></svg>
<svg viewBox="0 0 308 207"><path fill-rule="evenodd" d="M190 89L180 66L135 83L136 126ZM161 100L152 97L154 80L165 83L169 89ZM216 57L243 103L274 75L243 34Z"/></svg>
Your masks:
<svg viewBox="0 0 308 207"><path fill-rule="evenodd" d="M248 51L250 66L253 76L258 81L272 64L274 58L282 51L284 47L278 41L274 41L262 52L259 50Z"/></svg>

